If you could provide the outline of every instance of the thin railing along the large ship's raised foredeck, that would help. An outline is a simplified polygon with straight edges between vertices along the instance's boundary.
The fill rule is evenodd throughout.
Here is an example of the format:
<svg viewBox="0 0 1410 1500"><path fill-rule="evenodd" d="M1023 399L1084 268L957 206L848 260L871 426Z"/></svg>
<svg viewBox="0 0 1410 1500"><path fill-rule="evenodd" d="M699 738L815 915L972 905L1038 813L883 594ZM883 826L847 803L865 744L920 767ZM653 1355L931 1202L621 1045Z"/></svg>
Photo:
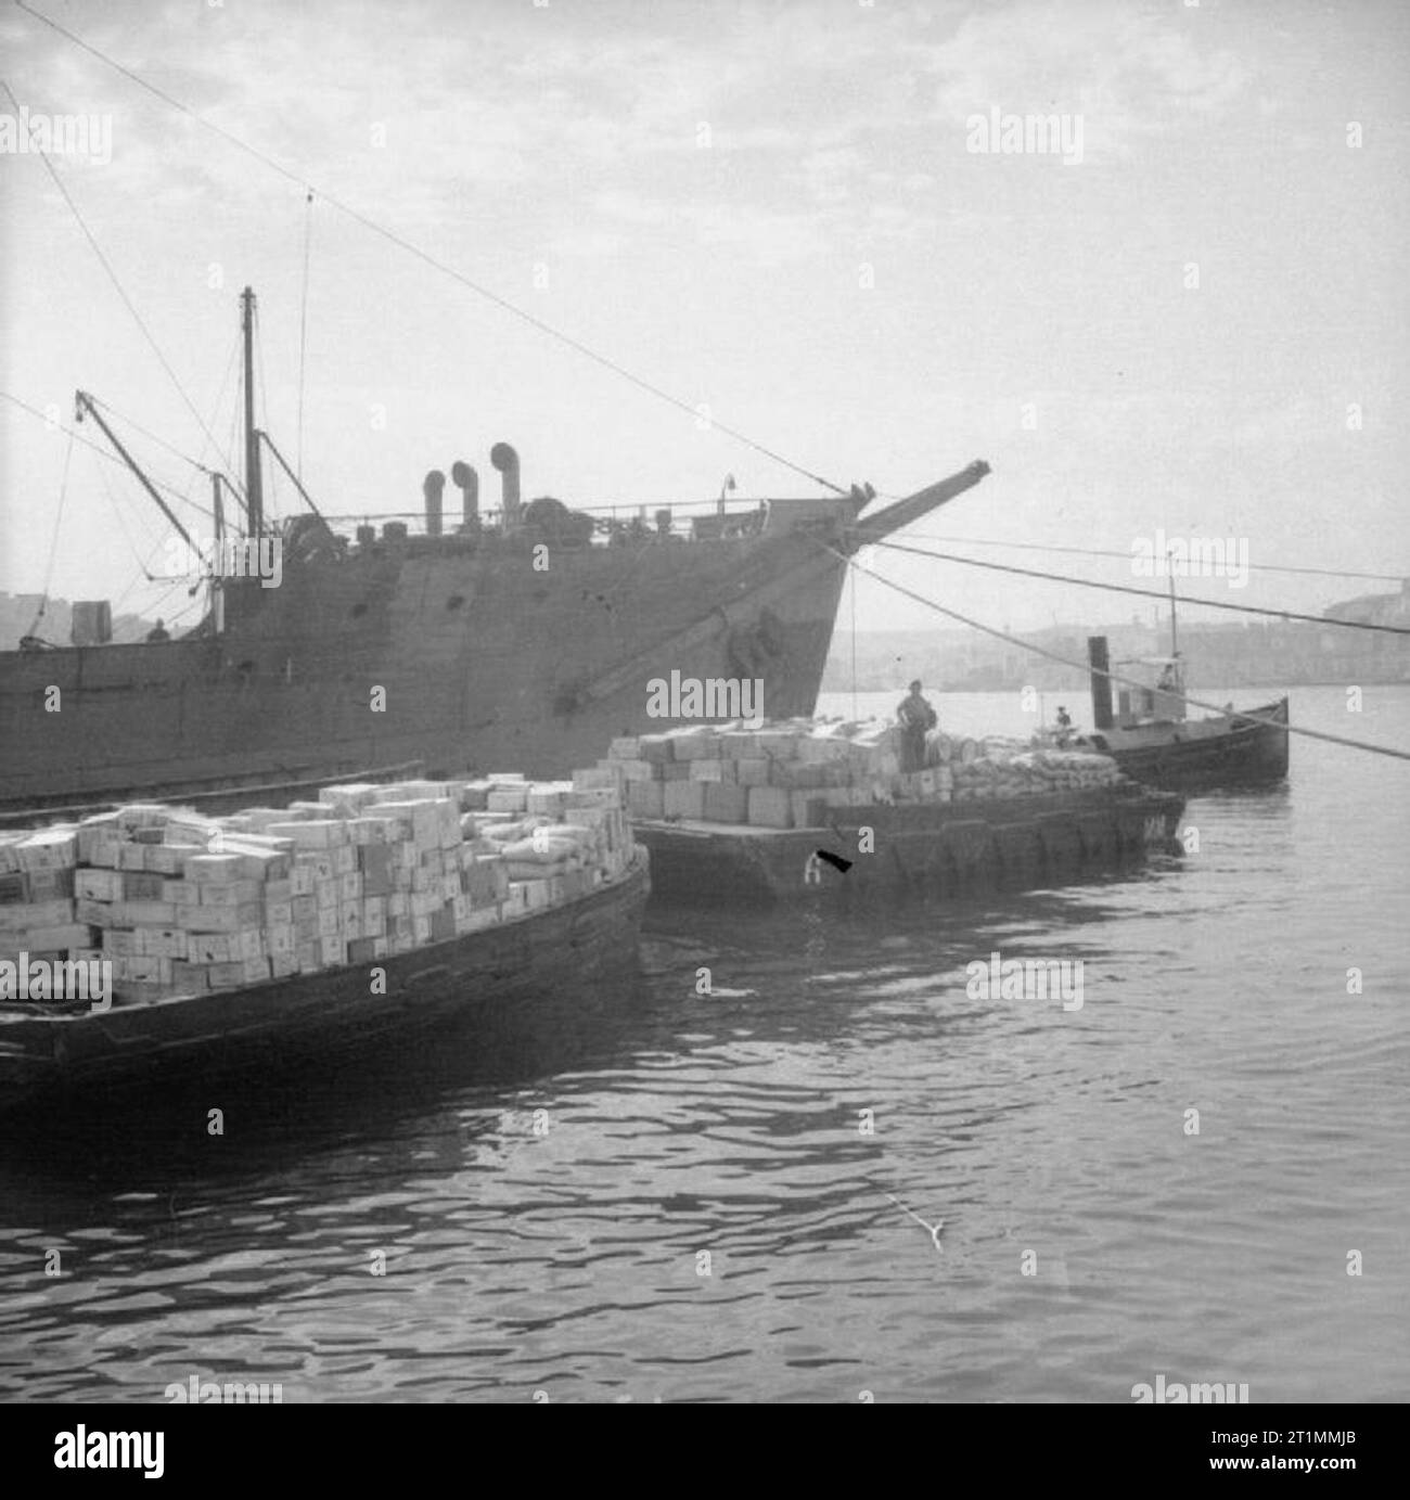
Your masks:
<svg viewBox="0 0 1410 1500"><path fill-rule="evenodd" d="M753 501L672 501L669 504L622 504L622 506L576 506L568 507L570 516L585 516L592 522L591 532L584 532L592 546L621 546L648 542L729 542L762 536L768 530L770 502ZM372 528L378 542L405 540L411 537L462 538L502 537L506 534L502 510L482 510L474 524L448 513L441 518L438 532L428 530L424 510L384 510L376 514L324 516L328 526L348 540L366 537L364 528ZM390 531L388 531L390 525ZM524 522L514 530L538 536L543 528ZM579 543L580 544L580 543Z"/></svg>

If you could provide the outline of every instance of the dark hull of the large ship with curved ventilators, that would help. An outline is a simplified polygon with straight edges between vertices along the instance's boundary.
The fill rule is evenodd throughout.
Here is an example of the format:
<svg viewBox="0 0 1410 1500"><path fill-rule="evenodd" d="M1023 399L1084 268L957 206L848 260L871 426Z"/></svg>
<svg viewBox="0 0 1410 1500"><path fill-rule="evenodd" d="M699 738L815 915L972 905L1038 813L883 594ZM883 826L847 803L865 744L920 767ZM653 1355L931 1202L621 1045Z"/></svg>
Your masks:
<svg viewBox="0 0 1410 1500"><path fill-rule="evenodd" d="M550 550L357 549L226 585L219 636L0 656L0 807L420 762L564 776L663 728L648 684L752 678L810 714L844 564L807 534Z"/></svg>

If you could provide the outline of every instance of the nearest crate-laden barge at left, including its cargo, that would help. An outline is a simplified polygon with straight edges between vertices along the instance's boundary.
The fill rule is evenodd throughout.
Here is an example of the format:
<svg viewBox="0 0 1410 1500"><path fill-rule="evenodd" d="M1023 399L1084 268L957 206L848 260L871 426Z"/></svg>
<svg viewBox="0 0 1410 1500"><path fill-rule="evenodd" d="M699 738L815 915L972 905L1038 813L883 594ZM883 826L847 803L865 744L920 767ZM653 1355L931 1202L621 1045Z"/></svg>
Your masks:
<svg viewBox="0 0 1410 1500"><path fill-rule="evenodd" d="M648 892L592 771L0 832L0 1108L490 1026L628 970Z"/></svg>

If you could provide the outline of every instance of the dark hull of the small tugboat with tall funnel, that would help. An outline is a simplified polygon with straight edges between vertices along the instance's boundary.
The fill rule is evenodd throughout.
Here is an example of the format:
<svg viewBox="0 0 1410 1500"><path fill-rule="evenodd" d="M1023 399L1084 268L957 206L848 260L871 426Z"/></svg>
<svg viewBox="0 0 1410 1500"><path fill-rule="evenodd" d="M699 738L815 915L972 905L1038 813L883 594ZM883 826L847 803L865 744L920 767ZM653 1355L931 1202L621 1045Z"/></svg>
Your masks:
<svg viewBox="0 0 1410 1500"><path fill-rule="evenodd" d="M1226 714L1180 724L1112 729L1100 738L1122 771L1143 786L1214 790L1284 780L1288 765L1287 699L1248 712L1263 722Z"/></svg>

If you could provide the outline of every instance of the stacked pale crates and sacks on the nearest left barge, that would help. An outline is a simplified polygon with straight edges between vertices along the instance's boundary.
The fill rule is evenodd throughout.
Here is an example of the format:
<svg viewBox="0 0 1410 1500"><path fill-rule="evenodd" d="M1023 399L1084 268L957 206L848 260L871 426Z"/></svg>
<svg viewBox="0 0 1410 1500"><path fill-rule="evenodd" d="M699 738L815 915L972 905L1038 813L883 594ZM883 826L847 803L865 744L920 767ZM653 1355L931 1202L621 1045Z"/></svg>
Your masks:
<svg viewBox="0 0 1410 1500"><path fill-rule="evenodd" d="M590 894L632 842L615 774L351 783L226 818L142 804L0 836L0 957L102 958L118 999L370 963Z"/></svg>

